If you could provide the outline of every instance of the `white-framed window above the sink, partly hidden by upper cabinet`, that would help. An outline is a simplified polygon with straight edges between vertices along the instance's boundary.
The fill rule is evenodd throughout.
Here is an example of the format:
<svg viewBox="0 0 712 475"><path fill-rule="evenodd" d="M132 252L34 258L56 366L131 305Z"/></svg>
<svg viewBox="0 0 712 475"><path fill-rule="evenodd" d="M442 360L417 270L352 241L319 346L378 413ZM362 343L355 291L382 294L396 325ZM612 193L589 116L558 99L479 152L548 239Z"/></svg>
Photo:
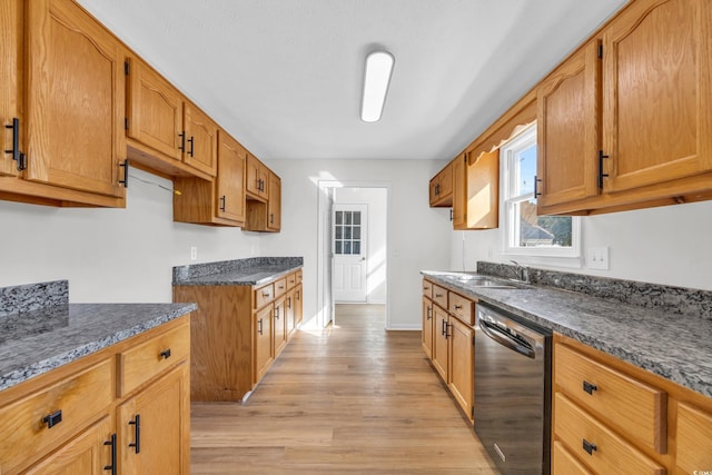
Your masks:
<svg viewBox="0 0 712 475"><path fill-rule="evenodd" d="M580 219L536 215L536 126L531 126L502 146L500 159L504 254L578 257Z"/></svg>

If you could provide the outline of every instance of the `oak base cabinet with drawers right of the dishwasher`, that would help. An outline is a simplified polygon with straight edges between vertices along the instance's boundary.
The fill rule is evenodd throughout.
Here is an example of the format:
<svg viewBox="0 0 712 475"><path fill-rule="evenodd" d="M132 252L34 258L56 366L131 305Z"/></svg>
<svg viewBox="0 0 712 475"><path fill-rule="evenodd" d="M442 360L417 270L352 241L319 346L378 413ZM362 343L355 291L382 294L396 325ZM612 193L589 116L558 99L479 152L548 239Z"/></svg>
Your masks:
<svg viewBox="0 0 712 475"><path fill-rule="evenodd" d="M712 468L712 399L554 336L552 473Z"/></svg>

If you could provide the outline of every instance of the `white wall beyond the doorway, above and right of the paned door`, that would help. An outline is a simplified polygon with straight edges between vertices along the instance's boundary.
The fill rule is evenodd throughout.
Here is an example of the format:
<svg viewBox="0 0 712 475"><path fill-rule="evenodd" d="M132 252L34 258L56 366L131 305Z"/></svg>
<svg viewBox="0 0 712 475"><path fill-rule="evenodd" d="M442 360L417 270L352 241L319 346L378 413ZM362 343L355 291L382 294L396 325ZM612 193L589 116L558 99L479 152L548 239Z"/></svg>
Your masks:
<svg viewBox="0 0 712 475"><path fill-rule="evenodd" d="M337 188L335 204L368 205L366 295L368 304L386 303L386 188Z"/></svg>

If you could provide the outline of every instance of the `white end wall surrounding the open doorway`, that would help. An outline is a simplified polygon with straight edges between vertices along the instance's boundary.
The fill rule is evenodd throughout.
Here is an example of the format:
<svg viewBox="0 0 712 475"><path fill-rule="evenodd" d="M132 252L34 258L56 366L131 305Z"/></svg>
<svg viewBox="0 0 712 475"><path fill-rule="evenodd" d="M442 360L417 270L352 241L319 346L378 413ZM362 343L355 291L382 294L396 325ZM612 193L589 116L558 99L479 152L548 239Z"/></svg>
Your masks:
<svg viewBox="0 0 712 475"><path fill-rule="evenodd" d="M270 160L283 178L281 232L261 240L264 255L304 256L304 317L317 313L318 180L383 181L388 196L388 327L421 328L422 269L449 263L449 214L428 207L431 160Z"/></svg>

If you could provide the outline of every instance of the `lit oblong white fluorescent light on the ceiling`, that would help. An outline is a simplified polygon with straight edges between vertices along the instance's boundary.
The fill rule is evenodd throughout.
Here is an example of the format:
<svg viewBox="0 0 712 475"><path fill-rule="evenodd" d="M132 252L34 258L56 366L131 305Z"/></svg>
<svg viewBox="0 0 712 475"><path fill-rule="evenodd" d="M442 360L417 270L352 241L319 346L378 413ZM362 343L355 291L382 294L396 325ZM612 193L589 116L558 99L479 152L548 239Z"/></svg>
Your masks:
<svg viewBox="0 0 712 475"><path fill-rule="evenodd" d="M360 120L364 122L380 119L394 62L393 55L387 51L374 51L366 57L364 98L360 106Z"/></svg>

